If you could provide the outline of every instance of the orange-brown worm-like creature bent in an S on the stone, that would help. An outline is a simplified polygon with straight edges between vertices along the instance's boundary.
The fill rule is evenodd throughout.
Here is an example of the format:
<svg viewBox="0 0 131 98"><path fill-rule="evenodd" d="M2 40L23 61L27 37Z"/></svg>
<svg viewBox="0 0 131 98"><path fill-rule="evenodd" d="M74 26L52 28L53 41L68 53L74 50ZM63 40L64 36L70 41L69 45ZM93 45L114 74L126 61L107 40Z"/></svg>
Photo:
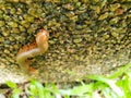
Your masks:
<svg viewBox="0 0 131 98"><path fill-rule="evenodd" d="M16 62L24 72L28 73L29 71L28 58L45 53L48 50L48 38L49 33L45 29L40 29L34 42L25 45L19 50Z"/></svg>

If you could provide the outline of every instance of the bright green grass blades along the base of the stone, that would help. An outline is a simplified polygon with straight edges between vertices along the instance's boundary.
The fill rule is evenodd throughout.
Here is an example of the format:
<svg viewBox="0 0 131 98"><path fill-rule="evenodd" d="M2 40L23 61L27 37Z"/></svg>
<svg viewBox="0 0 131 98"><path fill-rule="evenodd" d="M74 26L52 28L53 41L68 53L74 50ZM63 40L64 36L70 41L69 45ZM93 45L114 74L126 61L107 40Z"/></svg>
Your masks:
<svg viewBox="0 0 131 98"><path fill-rule="evenodd" d="M118 69L109 76L90 75L86 84L72 88L58 88L55 84L41 85L32 79L25 90L28 98L131 98L131 63ZM7 82L11 87L12 98L20 98L22 89L13 82Z"/></svg>

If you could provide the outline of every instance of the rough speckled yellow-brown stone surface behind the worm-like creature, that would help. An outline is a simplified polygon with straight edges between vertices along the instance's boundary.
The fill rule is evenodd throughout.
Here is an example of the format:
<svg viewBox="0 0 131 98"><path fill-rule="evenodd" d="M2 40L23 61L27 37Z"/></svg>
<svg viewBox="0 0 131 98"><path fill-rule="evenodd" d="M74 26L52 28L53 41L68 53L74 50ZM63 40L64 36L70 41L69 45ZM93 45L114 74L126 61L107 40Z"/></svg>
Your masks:
<svg viewBox="0 0 131 98"><path fill-rule="evenodd" d="M79 81L131 62L130 9L130 0L0 1L0 83ZM40 28L49 50L32 59L39 73L25 75L15 56Z"/></svg>

